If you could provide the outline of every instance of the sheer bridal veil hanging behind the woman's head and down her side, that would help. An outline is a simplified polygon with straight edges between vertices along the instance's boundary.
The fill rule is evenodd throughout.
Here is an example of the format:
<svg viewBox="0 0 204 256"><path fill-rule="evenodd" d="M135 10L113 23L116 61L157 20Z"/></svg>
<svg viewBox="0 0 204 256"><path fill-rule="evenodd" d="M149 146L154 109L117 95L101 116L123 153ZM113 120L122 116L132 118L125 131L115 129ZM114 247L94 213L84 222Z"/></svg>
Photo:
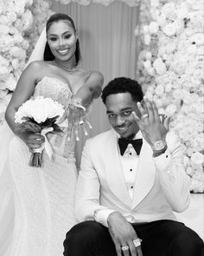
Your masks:
<svg viewBox="0 0 204 256"><path fill-rule="evenodd" d="M35 44L29 61L30 62L43 60L44 49L46 45L46 28L42 30L41 36ZM0 126L0 255L10 256L12 246L13 228L14 228L14 200L12 193L12 181L10 179L9 170L9 145L14 134L10 130L6 122Z"/></svg>

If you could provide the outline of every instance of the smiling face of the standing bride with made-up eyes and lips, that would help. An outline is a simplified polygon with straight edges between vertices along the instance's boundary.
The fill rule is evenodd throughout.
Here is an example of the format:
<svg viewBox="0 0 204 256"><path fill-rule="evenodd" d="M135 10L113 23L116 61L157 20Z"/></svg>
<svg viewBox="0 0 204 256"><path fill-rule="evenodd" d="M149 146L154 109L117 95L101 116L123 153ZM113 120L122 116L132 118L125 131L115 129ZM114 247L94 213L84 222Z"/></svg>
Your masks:
<svg viewBox="0 0 204 256"><path fill-rule="evenodd" d="M48 29L48 45L55 58L67 61L74 58L76 34L67 21L53 23Z"/></svg>

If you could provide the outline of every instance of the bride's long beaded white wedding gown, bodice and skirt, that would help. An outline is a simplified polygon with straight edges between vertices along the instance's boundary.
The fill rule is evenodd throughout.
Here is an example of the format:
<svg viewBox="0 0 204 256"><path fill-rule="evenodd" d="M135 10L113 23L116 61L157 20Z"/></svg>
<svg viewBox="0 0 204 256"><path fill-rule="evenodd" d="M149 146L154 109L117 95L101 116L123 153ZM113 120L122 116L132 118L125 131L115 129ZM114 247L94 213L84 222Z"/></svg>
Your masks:
<svg viewBox="0 0 204 256"><path fill-rule="evenodd" d="M36 96L50 97L65 105L72 92L67 84L45 76L35 87ZM62 256L67 231L76 223L74 191L77 170L75 138L48 134L54 154L43 153L43 167L29 167L30 153L18 137L10 142L9 163L15 198L15 227L10 256Z"/></svg>

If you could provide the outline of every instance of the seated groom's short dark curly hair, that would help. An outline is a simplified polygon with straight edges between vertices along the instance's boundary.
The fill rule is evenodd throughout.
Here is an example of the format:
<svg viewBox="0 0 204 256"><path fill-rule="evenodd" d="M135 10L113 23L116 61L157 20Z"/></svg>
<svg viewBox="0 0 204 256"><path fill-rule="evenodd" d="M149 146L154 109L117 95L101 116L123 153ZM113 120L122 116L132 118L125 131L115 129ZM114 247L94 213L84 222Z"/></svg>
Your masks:
<svg viewBox="0 0 204 256"><path fill-rule="evenodd" d="M102 91L102 101L105 103L109 95L130 93L134 102L143 100L143 90L136 80L127 77L117 77L110 81Z"/></svg>

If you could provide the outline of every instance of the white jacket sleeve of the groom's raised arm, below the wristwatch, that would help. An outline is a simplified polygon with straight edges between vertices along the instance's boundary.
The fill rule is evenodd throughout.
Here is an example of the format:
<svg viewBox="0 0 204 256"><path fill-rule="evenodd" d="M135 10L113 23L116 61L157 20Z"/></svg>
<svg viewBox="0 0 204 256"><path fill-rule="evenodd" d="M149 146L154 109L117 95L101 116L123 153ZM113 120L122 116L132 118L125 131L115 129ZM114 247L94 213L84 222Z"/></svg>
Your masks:
<svg viewBox="0 0 204 256"><path fill-rule="evenodd" d="M154 158L156 174L172 209L182 212L190 200L189 177L183 164L182 145L174 133L169 133L166 141L166 152Z"/></svg>

